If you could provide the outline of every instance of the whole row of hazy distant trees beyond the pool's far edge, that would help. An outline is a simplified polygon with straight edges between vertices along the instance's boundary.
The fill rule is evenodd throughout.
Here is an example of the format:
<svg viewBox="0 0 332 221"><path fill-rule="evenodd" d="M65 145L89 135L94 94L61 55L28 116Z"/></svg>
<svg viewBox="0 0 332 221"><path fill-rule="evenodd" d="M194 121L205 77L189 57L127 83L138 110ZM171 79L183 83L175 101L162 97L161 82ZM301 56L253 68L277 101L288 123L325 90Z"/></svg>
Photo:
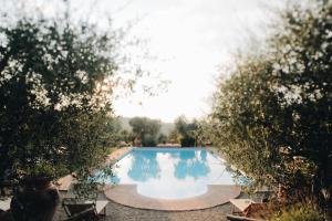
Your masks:
<svg viewBox="0 0 332 221"><path fill-rule="evenodd" d="M188 120L185 116L179 116L174 123L163 123L147 117L117 117L112 124L117 131L118 146L201 145L199 122Z"/></svg>

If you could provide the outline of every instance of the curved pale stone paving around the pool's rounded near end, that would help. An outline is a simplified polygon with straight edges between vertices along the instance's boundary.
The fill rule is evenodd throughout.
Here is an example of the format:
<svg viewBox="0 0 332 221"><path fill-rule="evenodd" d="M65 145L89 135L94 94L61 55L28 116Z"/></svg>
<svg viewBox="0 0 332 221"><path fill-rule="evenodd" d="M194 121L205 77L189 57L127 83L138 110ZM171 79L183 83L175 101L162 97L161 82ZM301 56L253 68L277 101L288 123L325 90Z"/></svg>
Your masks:
<svg viewBox="0 0 332 221"><path fill-rule="evenodd" d="M229 202L240 196L241 188L234 185L209 185L208 191L201 196L180 199L163 200L141 196L136 191L136 185L117 185L106 187L107 199L132 208L163 210L163 211L190 211L217 207Z"/></svg>

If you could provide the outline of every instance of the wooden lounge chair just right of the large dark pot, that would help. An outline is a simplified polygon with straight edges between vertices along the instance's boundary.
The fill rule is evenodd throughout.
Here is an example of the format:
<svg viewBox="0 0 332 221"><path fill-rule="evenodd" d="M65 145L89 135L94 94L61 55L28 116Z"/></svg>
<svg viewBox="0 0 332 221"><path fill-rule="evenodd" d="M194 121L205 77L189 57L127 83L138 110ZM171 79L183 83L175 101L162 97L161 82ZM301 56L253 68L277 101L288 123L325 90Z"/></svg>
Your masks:
<svg viewBox="0 0 332 221"><path fill-rule="evenodd" d="M68 220L84 221L98 220L106 215L106 200L76 201L75 199L63 199L62 207L69 217Z"/></svg>

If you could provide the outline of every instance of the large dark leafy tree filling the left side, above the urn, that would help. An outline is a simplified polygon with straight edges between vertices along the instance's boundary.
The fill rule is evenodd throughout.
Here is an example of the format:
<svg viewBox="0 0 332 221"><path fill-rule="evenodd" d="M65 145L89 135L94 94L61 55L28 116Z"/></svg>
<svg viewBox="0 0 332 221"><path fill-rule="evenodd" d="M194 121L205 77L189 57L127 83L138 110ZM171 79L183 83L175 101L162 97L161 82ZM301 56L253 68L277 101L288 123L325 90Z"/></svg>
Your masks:
<svg viewBox="0 0 332 221"><path fill-rule="evenodd" d="M86 176L112 133L114 33L24 18L0 34L0 187L40 164Z"/></svg>

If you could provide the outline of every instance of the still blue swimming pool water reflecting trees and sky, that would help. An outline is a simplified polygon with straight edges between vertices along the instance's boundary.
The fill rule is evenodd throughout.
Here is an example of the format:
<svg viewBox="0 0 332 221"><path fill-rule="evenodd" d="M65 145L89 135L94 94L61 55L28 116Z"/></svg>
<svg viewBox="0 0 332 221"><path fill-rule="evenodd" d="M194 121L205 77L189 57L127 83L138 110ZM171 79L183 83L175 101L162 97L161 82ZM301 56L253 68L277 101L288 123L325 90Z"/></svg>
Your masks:
<svg viewBox="0 0 332 221"><path fill-rule="evenodd" d="M137 192L157 199L204 194L208 185L234 185L224 160L200 148L134 148L113 166L106 183L137 185Z"/></svg>

